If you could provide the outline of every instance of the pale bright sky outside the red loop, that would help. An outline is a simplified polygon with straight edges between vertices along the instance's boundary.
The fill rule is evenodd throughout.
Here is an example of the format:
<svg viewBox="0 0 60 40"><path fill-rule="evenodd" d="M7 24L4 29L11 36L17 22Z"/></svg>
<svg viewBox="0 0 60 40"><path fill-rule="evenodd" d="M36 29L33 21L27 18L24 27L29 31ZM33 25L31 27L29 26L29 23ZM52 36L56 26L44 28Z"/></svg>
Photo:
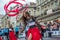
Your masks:
<svg viewBox="0 0 60 40"><path fill-rule="evenodd" d="M0 14L5 15L4 5L10 0L0 0ZM27 2L36 2L36 0L26 0Z"/></svg>

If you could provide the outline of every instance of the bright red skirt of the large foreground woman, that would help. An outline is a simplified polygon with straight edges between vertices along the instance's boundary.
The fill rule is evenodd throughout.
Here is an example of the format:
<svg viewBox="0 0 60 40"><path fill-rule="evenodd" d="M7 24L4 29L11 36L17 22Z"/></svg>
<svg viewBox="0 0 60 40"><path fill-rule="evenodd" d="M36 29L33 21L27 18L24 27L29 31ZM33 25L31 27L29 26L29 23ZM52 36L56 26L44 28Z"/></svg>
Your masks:
<svg viewBox="0 0 60 40"><path fill-rule="evenodd" d="M42 35L37 27L29 29L27 32L27 37L30 33L32 34L32 40L40 40L42 38Z"/></svg>

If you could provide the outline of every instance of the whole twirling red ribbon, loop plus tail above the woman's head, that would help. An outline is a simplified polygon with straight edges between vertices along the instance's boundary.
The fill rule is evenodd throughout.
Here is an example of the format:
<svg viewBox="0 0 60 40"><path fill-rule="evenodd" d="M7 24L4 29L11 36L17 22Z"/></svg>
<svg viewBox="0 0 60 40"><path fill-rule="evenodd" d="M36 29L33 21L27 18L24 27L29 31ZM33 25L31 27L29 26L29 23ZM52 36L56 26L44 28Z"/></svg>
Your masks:
<svg viewBox="0 0 60 40"><path fill-rule="evenodd" d="M23 8L19 8L19 7L16 7L16 9L14 10L9 10L8 7L14 3L14 4L19 4L20 7L23 6L22 3L19 3L19 2L16 2L17 0L11 0L8 4L4 5L4 10L6 11L7 15L8 16L16 16L17 14L19 14L19 12L23 9ZM26 0L22 0L22 1L26 1ZM27 5L26 5L26 8L23 12L25 12L27 10ZM15 14L9 14L9 12L14 12Z"/></svg>

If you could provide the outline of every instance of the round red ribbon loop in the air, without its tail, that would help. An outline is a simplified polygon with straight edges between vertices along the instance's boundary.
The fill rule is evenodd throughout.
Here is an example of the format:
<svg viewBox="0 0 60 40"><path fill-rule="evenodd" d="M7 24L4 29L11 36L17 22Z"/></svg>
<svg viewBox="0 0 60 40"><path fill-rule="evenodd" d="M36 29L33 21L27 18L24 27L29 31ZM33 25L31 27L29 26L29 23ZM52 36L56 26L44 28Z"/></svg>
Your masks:
<svg viewBox="0 0 60 40"><path fill-rule="evenodd" d="M9 7L12 3L14 3L14 4L19 4L21 7L23 6L22 3L15 2L15 1L10 1L10 2L8 3L8 5L5 5L5 6L4 6L4 9L5 9L5 11L6 11L6 13L7 13L8 16L16 16L16 15L19 13L19 11L22 9L22 8L19 9L19 8L17 7L15 10L9 10L8 7ZM15 12L16 14L9 14L8 12Z"/></svg>

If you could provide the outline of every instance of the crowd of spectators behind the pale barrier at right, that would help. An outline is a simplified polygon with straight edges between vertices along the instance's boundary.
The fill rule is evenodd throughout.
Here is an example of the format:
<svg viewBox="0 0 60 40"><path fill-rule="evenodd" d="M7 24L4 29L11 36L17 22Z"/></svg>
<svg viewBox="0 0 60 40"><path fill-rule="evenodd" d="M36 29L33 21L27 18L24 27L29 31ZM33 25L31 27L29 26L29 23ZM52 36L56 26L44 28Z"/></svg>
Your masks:
<svg viewBox="0 0 60 40"><path fill-rule="evenodd" d="M44 33L48 33L48 37L51 37L53 32L60 31L60 22L57 22L57 20L54 20L53 22L44 23L43 27L44 27L44 31L42 33L43 36L44 36ZM55 32L55 34L57 33Z"/></svg>

